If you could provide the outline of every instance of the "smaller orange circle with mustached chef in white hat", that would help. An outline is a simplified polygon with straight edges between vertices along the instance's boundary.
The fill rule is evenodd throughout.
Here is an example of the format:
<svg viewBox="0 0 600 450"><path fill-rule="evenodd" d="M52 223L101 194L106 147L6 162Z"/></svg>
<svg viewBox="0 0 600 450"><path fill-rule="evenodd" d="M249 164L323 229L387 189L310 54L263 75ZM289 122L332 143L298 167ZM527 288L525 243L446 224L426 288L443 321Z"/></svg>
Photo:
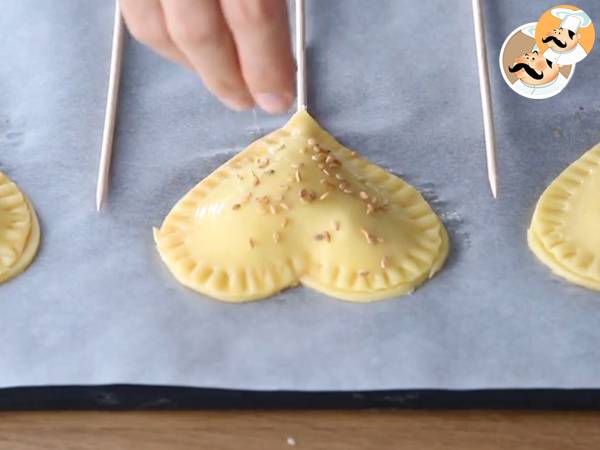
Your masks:
<svg viewBox="0 0 600 450"><path fill-rule="evenodd" d="M594 46L594 24L585 11L574 6L559 6L542 15L535 37L550 61L563 66L577 64Z"/></svg>

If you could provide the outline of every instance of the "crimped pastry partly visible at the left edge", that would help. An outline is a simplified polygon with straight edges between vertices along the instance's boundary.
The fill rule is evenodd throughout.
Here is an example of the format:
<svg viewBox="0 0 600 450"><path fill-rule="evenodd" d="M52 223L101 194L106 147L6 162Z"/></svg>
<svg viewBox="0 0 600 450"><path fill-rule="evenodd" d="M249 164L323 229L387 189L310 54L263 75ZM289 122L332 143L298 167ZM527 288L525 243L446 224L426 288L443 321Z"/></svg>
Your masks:
<svg viewBox="0 0 600 450"><path fill-rule="evenodd" d="M23 272L40 242L40 227L31 204L0 172L0 283Z"/></svg>

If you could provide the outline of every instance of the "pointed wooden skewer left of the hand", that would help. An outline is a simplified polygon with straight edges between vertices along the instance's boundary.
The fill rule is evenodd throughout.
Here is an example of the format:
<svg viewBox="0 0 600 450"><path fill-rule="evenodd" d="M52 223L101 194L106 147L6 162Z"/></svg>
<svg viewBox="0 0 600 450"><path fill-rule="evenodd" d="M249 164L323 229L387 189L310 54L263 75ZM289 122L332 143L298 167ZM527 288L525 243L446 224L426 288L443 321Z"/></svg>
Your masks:
<svg viewBox="0 0 600 450"><path fill-rule="evenodd" d="M108 194L110 180L110 163L112 159L113 140L115 135L115 120L119 98L119 81L123 61L123 35L125 27L119 0L115 3L115 22L113 29L112 54L110 59L110 77L106 98L106 113L104 116L104 131L102 133L102 150L98 169L98 184L96 186L96 210L100 211Z"/></svg>

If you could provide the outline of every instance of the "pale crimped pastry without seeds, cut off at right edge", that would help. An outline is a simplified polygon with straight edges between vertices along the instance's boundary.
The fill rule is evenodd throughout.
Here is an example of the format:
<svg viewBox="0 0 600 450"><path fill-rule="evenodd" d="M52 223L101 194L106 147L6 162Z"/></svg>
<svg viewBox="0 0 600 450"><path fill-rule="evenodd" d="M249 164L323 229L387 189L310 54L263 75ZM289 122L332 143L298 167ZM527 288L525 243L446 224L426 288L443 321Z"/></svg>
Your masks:
<svg viewBox="0 0 600 450"><path fill-rule="evenodd" d="M546 189L535 209L528 241L554 273L600 290L600 145Z"/></svg>

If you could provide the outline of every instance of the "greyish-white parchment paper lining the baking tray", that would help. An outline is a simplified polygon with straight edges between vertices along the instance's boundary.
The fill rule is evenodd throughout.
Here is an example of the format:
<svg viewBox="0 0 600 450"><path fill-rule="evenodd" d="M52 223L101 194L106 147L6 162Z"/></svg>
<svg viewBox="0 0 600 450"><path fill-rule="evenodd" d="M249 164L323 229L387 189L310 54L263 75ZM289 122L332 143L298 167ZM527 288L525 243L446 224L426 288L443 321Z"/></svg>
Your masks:
<svg viewBox="0 0 600 450"><path fill-rule="evenodd" d="M0 287L0 386L139 383L237 389L600 387L600 295L526 245L534 204L600 141L600 48L567 90L511 92L498 53L554 2L485 2L500 199L490 198L470 2L309 2L312 113L417 186L452 239L414 295L355 305L298 288L232 306L180 287L152 226L287 116L228 112L196 77L128 41L110 199L94 189L112 2L4 0L0 161L43 245ZM578 5L600 24L600 3Z"/></svg>

